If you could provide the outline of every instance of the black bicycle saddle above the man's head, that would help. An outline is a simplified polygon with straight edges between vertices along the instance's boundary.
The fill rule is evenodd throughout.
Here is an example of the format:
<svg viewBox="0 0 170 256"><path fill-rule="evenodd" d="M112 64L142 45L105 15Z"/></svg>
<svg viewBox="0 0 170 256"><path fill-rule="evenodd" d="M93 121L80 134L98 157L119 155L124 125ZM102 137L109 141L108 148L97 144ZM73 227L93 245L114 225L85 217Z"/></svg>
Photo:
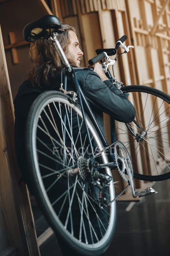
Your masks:
<svg viewBox="0 0 170 256"><path fill-rule="evenodd" d="M62 33L61 21L54 15L45 15L24 27L23 36L27 42L34 42L40 37L49 37L52 32Z"/></svg>

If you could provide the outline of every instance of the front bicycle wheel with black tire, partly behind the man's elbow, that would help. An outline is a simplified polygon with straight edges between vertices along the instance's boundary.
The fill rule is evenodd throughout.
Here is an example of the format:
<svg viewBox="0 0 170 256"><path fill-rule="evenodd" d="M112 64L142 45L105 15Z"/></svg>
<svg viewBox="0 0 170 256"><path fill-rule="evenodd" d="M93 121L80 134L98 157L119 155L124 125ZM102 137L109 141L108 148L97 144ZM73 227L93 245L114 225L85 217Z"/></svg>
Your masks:
<svg viewBox="0 0 170 256"><path fill-rule="evenodd" d="M136 108L135 122L117 123L117 135L132 156L134 177L159 181L170 178L170 96L144 86L121 88Z"/></svg>

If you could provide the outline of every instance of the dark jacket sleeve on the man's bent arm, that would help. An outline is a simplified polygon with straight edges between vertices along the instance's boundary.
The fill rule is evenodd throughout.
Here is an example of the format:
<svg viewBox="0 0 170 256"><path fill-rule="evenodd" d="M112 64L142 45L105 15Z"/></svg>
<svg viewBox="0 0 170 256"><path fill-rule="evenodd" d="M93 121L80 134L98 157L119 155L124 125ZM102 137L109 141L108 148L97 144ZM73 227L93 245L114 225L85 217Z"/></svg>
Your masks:
<svg viewBox="0 0 170 256"><path fill-rule="evenodd" d="M79 77L78 77L79 79ZM112 115L119 122L132 122L136 116L134 106L109 80L101 81L96 72L88 72L80 81L83 92L94 105L103 112Z"/></svg>

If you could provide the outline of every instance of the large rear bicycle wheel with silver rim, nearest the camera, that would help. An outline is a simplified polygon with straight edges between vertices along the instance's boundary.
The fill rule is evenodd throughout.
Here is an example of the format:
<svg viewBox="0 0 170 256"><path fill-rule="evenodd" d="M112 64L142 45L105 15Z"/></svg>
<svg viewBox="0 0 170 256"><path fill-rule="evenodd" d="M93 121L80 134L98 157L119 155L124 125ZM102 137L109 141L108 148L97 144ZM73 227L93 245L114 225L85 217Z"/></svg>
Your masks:
<svg viewBox="0 0 170 256"><path fill-rule="evenodd" d="M86 119L94 152L100 152L101 139ZM99 189L87 173L89 147L80 107L70 97L49 91L35 100L27 120L26 153L38 204L57 236L79 254L98 255L112 241L116 202L101 207ZM104 151L100 161L108 163ZM103 170L112 177L109 168ZM103 192L108 203L115 198L113 180Z"/></svg>

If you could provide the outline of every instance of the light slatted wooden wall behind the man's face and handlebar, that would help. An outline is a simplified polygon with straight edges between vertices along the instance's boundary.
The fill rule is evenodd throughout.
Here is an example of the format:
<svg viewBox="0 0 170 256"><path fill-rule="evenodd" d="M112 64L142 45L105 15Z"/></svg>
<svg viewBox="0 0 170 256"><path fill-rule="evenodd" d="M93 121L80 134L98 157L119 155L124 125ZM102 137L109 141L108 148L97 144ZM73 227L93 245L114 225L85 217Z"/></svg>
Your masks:
<svg viewBox="0 0 170 256"><path fill-rule="evenodd" d="M56 9L54 8L56 6ZM84 51L84 63L96 55L96 48L111 48L126 34L127 45L134 45L128 54L118 59L114 66L116 78L125 85L148 85L165 93L170 92L170 1L168 0L51 0L53 13L63 22L76 25L80 33L81 47ZM57 11L56 11L57 10ZM119 50L120 51L120 50ZM112 70L110 70L112 73ZM134 99L137 104L139 99ZM152 102L150 103L152 106ZM168 119L167 119L168 121ZM104 114L105 135L110 143L110 118ZM124 124L116 123L126 130ZM117 136L128 141L128 135ZM135 145L131 144L132 154ZM134 168L140 173L149 173L148 156L140 156L134 162ZM154 172L154 166L151 166ZM119 181L116 191L125 186ZM135 181L137 188L148 186L146 182ZM122 200L132 199L125 195Z"/></svg>

